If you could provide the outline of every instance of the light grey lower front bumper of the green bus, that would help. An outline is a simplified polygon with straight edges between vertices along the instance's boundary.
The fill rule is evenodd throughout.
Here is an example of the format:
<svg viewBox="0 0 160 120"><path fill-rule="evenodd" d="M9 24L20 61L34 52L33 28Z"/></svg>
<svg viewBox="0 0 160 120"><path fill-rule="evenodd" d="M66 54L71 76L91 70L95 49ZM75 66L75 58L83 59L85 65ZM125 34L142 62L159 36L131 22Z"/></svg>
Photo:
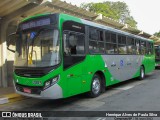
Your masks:
<svg viewBox="0 0 160 120"><path fill-rule="evenodd" d="M40 94L30 94L30 93L19 91L17 90L15 84L14 84L14 88L16 93L27 96L27 97L33 97L33 98L39 98L39 99L63 98L62 88L58 84L54 84L53 86L41 91Z"/></svg>

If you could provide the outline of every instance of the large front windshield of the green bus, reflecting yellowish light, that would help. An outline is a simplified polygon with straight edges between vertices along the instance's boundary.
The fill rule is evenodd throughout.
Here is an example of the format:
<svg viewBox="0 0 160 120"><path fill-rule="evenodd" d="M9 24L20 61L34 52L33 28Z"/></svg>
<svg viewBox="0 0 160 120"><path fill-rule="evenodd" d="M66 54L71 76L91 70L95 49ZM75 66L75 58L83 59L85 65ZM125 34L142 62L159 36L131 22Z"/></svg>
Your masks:
<svg viewBox="0 0 160 120"><path fill-rule="evenodd" d="M19 32L14 66L49 67L59 64L59 43L56 29Z"/></svg>

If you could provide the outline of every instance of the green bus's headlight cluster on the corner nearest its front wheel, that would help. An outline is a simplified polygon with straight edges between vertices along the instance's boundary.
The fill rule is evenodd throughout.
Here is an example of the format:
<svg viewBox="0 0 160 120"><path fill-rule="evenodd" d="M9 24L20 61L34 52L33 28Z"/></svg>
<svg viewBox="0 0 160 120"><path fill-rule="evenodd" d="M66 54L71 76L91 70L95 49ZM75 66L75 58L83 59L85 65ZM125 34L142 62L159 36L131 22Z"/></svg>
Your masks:
<svg viewBox="0 0 160 120"><path fill-rule="evenodd" d="M60 75L58 75L58 76L56 76L56 77L54 77L54 78L46 81L45 84L44 84L44 88L43 88L43 89L47 89L47 88L49 88L50 86L56 84L59 79L60 79Z"/></svg>

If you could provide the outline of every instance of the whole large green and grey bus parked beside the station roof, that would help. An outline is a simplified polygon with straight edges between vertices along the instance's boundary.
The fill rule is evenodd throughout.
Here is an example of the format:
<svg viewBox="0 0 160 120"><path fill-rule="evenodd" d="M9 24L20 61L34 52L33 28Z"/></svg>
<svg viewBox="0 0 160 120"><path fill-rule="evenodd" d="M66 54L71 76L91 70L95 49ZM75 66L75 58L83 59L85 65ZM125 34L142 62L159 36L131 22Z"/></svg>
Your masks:
<svg viewBox="0 0 160 120"><path fill-rule="evenodd" d="M155 69L152 40L67 14L28 17L15 36L13 83L24 96L97 97Z"/></svg>

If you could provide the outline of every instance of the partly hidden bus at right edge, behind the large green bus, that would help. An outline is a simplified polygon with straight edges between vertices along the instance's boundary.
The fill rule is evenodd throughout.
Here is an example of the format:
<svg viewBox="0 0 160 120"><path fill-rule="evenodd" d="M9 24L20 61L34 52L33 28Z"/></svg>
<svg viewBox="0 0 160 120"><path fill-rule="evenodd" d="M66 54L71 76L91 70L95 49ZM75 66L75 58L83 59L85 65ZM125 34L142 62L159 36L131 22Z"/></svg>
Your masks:
<svg viewBox="0 0 160 120"><path fill-rule="evenodd" d="M159 45L155 45L155 67L159 68L160 67L160 46Z"/></svg>

